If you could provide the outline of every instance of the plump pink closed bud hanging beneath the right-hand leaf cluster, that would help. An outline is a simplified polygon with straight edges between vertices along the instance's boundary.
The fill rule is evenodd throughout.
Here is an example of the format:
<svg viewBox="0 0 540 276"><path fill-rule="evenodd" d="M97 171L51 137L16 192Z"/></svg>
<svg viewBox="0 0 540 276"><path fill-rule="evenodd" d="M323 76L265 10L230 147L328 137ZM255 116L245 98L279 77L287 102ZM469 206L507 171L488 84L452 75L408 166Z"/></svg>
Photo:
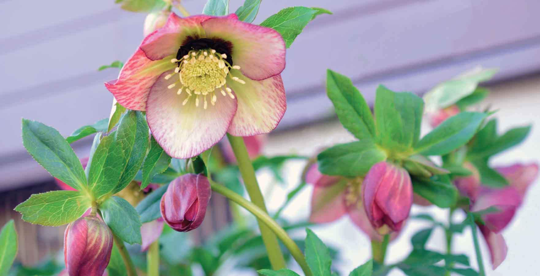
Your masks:
<svg viewBox="0 0 540 276"><path fill-rule="evenodd" d="M380 234L400 231L413 205L413 185L402 167L379 162L362 185L363 204L373 227Z"/></svg>

